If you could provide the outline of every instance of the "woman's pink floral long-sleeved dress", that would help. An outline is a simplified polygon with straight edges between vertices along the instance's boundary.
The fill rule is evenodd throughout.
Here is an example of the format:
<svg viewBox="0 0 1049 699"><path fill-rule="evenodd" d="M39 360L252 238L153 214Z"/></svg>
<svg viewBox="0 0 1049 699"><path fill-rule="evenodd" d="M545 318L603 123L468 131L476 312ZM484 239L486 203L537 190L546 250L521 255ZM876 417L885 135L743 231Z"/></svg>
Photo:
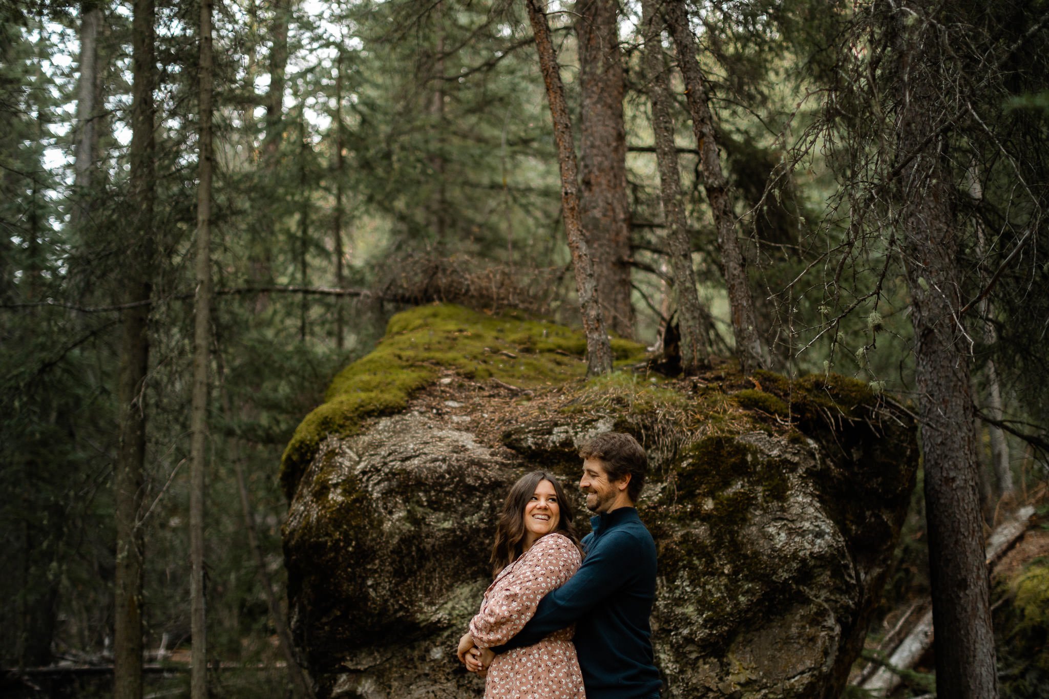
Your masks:
<svg viewBox="0 0 1049 699"><path fill-rule="evenodd" d="M535 614L542 596L566 583L580 563L568 537L540 538L488 586L480 611L470 621L473 642L491 648L510 640ZM495 656L485 699L585 699L573 633L575 626Z"/></svg>

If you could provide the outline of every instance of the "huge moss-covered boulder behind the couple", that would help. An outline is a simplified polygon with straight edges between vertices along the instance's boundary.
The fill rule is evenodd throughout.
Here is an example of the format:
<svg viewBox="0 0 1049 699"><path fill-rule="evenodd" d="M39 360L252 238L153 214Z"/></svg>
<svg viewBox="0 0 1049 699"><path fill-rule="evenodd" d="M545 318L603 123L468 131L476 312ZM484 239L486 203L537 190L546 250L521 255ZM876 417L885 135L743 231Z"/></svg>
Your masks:
<svg viewBox="0 0 1049 699"><path fill-rule="evenodd" d="M664 696L839 696L914 483L906 413L836 375L645 375L624 341L631 368L587 380L583 351L551 323L430 306L337 377L282 468L292 620L320 696L479 696L454 642L507 488L536 467L574 483L579 444L612 429L651 460Z"/></svg>

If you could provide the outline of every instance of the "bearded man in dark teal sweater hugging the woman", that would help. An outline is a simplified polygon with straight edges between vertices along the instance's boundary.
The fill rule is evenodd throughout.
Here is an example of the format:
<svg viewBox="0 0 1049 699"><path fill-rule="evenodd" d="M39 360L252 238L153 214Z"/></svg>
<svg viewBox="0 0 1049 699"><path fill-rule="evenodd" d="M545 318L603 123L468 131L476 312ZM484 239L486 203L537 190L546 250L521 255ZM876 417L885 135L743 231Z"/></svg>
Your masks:
<svg viewBox="0 0 1049 699"><path fill-rule="evenodd" d="M662 682L648 625L656 595L656 544L634 506L648 457L634 437L616 432L597 435L579 455L579 487L586 494L586 508L596 514L594 530L582 541L582 566L540 600L516 636L492 651L531 646L575 624L573 640L587 699L658 699ZM459 658L472 671L480 669L475 656L462 649Z"/></svg>

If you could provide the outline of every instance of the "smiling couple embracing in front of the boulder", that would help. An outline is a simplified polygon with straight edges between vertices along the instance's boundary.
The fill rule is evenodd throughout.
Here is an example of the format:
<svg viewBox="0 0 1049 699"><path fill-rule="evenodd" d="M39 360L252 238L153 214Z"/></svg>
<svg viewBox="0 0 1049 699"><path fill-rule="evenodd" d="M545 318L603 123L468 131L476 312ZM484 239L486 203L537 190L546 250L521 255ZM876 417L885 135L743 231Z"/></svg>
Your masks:
<svg viewBox="0 0 1049 699"><path fill-rule="evenodd" d="M593 531L580 543L572 505L536 471L510 489L492 547L495 580L458 646L486 672L485 699L658 699L648 616L656 545L638 518L648 459L634 437L597 435L580 450Z"/></svg>

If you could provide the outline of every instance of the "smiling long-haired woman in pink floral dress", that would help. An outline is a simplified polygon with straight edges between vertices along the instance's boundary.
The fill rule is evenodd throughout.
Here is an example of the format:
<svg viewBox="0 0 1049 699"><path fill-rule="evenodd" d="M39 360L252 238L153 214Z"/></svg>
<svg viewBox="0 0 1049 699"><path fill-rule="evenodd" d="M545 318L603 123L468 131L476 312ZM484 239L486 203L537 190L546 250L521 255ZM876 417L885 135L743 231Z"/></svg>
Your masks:
<svg viewBox="0 0 1049 699"><path fill-rule="evenodd" d="M581 549L572 517L561 484L544 471L522 476L510 488L492 546L495 580L459 641L459 660L510 640L535 614L539 599L576 572ZM585 699L574 631L569 627L495 656L485 699Z"/></svg>

